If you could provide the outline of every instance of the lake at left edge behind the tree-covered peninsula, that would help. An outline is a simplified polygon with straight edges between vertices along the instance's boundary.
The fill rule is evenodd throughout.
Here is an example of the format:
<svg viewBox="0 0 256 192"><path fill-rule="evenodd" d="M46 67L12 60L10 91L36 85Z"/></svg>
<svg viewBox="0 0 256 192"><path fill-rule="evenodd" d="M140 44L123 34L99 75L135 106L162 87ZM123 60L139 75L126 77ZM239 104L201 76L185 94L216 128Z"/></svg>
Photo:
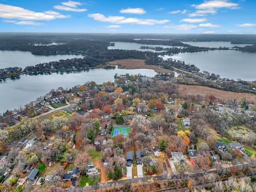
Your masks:
<svg viewBox="0 0 256 192"><path fill-rule="evenodd" d="M79 54L65 55L33 55L27 51L1 51L0 50L0 69L6 67L21 67L34 66L40 63L48 63L51 61L59 61L60 59L83 58Z"/></svg>

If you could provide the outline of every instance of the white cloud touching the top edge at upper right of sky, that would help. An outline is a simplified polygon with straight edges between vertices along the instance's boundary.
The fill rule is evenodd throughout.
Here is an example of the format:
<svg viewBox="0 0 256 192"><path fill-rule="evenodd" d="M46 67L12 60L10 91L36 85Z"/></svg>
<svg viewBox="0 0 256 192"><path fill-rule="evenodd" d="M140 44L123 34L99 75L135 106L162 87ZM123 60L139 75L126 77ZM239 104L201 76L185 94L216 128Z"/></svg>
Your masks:
<svg viewBox="0 0 256 192"><path fill-rule="evenodd" d="M227 2L227 0L210 0L205 1L202 4L199 5L192 5L192 7L195 7L196 9L209 9L209 8L237 8L237 3Z"/></svg>

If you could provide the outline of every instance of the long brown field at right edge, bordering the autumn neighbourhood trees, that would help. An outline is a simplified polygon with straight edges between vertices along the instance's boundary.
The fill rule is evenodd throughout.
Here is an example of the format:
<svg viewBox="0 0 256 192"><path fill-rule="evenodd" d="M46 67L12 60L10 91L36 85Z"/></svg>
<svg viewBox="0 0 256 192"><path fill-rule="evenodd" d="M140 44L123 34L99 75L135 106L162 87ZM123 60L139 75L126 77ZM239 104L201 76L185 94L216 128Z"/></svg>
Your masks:
<svg viewBox="0 0 256 192"><path fill-rule="evenodd" d="M256 95L252 93L235 93L199 85L178 84L177 89L179 94L192 94L201 96L213 95L216 98L222 98L224 100L231 98L237 100L238 102L241 102L244 98L249 102L254 102L256 100Z"/></svg>

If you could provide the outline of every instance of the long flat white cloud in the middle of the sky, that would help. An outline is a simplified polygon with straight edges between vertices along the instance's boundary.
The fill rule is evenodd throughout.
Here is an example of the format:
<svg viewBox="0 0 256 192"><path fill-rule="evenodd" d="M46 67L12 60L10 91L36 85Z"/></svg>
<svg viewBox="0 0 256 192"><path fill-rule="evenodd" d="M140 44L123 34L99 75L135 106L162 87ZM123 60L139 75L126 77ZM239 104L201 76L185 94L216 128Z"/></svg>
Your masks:
<svg viewBox="0 0 256 192"><path fill-rule="evenodd" d="M108 16L105 17L100 13L88 14L88 17L101 22L110 22L116 24L138 24L138 25L154 25L165 24L170 20L155 20L155 19L140 19L140 18L126 18L122 16Z"/></svg>

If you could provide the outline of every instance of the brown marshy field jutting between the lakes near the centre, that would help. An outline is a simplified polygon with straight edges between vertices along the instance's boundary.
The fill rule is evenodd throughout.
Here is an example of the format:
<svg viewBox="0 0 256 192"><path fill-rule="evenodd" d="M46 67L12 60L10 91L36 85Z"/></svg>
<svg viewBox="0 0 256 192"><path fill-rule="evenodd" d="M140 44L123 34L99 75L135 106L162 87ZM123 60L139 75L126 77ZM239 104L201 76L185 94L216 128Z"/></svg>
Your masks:
<svg viewBox="0 0 256 192"><path fill-rule="evenodd" d="M155 65L146 65L145 60L142 59L122 59L106 62L110 65L118 65L120 69L153 69L157 73L170 73L171 70L158 68ZM98 67L98 66L97 66Z"/></svg>

